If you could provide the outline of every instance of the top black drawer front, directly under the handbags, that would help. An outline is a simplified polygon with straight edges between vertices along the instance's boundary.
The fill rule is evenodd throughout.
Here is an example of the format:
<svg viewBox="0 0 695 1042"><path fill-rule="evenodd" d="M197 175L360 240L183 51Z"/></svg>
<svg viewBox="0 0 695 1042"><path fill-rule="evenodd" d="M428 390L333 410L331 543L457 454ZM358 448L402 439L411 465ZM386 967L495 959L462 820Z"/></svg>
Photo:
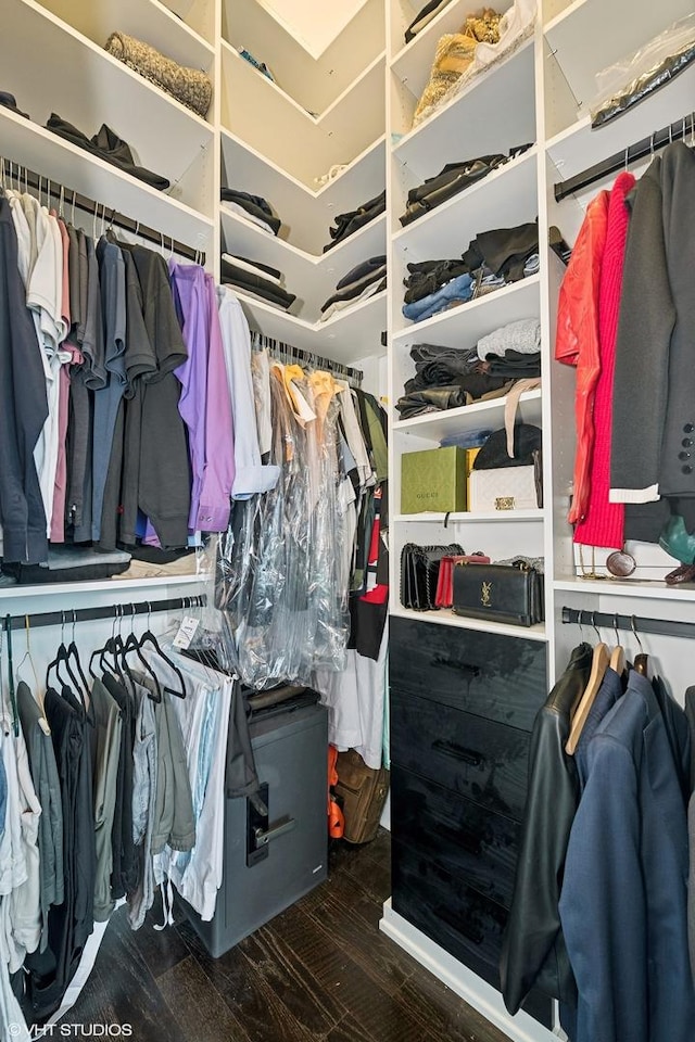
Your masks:
<svg viewBox="0 0 695 1042"><path fill-rule="evenodd" d="M389 679L399 691L531 730L547 696L539 640L392 617Z"/></svg>

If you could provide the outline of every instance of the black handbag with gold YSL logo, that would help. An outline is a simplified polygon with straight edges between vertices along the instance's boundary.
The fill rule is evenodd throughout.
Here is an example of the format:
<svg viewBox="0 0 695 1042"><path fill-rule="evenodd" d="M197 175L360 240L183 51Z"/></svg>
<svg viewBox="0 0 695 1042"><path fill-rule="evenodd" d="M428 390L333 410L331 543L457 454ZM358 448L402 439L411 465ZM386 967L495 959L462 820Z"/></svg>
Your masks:
<svg viewBox="0 0 695 1042"><path fill-rule="evenodd" d="M456 564L454 612L515 626L544 619L543 574L527 561L511 564Z"/></svg>

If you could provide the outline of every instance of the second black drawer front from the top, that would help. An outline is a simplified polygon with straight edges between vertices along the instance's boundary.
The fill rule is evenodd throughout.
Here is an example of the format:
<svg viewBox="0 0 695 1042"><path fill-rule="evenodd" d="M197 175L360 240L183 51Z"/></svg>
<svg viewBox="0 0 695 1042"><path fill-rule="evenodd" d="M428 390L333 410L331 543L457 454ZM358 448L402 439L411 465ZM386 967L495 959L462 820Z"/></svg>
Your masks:
<svg viewBox="0 0 695 1042"><path fill-rule="evenodd" d="M526 801L529 741L516 727L392 691L392 764L517 822Z"/></svg>

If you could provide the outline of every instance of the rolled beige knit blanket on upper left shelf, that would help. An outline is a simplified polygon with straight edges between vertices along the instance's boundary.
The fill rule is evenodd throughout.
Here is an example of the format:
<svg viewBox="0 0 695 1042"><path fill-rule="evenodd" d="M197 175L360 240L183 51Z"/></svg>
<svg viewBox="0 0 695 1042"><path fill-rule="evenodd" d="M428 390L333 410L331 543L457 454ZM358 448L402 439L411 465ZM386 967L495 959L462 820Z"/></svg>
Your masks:
<svg viewBox="0 0 695 1042"><path fill-rule="evenodd" d="M112 33L106 40L105 50L146 79L156 84L167 94L199 116L205 116L213 98L213 85L210 77L198 68L187 68L170 58L160 54L149 43L137 40L125 33Z"/></svg>

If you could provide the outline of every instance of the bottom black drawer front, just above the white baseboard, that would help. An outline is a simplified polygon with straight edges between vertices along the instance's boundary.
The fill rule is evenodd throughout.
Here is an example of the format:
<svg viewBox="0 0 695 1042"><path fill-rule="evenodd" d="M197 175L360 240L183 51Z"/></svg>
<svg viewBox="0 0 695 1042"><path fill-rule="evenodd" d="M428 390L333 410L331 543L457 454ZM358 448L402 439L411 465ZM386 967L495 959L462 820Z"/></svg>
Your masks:
<svg viewBox="0 0 695 1042"><path fill-rule="evenodd" d="M500 990L506 911L397 841L392 849L391 877L393 911ZM552 1028L548 999L532 992L523 1008Z"/></svg>

